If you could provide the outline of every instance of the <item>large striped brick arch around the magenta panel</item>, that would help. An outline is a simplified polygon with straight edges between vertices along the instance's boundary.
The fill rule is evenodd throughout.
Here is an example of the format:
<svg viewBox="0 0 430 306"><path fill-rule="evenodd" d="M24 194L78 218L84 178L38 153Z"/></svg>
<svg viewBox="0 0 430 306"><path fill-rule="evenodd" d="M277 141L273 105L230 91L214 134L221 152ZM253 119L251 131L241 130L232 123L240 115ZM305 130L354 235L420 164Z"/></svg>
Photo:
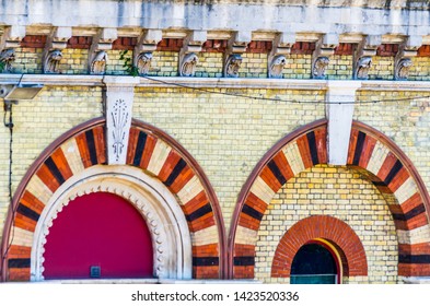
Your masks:
<svg viewBox="0 0 430 306"><path fill-rule="evenodd" d="M94 172L102 180L108 179L105 174L116 178L116 190L123 190L117 192L126 198L136 197L136 192L126 192L130 180L139 192L149 189L136 183L142 176L158 181L164 189L159 193L162 197L171 195L186 222L189 237L185 240L190 240L193 278L224 278L225 229L221 210L208 178L191 155L163 131L138 120L131 123L127 165L123 169L106 165L105 145L105 120L96 118L58 138L34 162L16 189L8 212L1 245L4 255L1 258L2 281L31 279L32 252L37 239L35 231L44 227L39 223L42 216L49 210L55 211L59 203L67 204L73 192L92 192L79 190L77 186L84 186ZM126 178L130 173L137 174ZM71 181L77 184L70 186ZM65 190L71 193L65 196L66 200L59 200L62 196L58 195L63 195ZM135 205L139 207L138 202ZM179 215L177 211L175 214Z"/></svg>

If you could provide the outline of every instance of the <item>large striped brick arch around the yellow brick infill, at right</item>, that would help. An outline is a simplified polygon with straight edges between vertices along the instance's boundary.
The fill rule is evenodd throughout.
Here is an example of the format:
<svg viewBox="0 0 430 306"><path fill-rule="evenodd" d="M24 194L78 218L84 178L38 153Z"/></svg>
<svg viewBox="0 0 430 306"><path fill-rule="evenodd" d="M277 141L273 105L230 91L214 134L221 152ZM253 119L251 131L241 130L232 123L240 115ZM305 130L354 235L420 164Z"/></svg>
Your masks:
<svg viewBox="0 0 430 306"><path fill-rule="evenodd" d="M327 164L327 120L304 126L281 139L243 186L230 228L229 275L254 278L257 232L267 205L290 178ZM430 275L430 198L417 169L386 136L352 125L348 166L364 174L387 199L399 244L398 274Z"/></svg>

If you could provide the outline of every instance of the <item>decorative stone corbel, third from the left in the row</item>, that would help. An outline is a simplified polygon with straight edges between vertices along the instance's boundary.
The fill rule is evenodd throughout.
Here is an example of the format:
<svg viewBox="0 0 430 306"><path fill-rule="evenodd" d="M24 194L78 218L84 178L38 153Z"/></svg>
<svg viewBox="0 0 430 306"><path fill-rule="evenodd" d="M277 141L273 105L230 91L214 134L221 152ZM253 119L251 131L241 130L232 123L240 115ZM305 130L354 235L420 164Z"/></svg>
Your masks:
<svg viewBox="0 0 430 306"><path fill-rule="evenodd" d="M106 50L112 49L112 43L117 38L116 28L101 28L93 36L89 54L89 70L91 74L104 74L107 63Z"/></svg>

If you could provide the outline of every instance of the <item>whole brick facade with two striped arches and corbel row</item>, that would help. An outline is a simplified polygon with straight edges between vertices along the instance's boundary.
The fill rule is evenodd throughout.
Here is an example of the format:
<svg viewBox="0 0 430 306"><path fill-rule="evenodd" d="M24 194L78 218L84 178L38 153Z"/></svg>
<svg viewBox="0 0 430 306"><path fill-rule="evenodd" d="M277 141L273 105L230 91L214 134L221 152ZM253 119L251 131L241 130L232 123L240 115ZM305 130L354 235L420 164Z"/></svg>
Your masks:
<svg viewBox="0 0 430 306"><path fill-rule="evenodd" d="M427 2L288 2L0 4L1 281L290 283L310 244L341 283L428 281ZM100 193L152 255L113 274L73 255L128 223Z"/></svg>

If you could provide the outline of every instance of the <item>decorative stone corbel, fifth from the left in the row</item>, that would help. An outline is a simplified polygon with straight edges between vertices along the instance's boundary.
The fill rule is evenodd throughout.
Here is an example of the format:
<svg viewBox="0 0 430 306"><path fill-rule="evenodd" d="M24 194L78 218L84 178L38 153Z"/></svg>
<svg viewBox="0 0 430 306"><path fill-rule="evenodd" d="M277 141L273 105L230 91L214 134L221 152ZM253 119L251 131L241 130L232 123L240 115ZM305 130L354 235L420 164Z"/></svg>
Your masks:
<svg viewBox="0 0 430 306"><path fill-rule="evenodd" d="M179 75L181 76L194 76L196 73L196 66L198 63L198 57L196 52L201 51L201 46L207 40L206 31L193 31L189 33L183 43L183 47L179 51Z"/></svg>

